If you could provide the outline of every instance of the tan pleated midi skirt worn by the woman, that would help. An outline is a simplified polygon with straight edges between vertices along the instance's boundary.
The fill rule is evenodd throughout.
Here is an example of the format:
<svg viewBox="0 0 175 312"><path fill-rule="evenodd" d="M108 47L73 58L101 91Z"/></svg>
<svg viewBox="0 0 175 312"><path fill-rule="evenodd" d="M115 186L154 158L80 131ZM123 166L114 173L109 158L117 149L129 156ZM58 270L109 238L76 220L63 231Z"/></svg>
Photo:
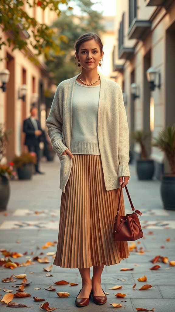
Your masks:
<svg viewBox="0 0 175 312"><path fill-rule="evenodd" d="M106 191L100 155L74 154L62 192L54 265L64 268L110 266L128 258L127 241L113 241L120 189ZM123 192L120 214L125 215Z"/></svg>

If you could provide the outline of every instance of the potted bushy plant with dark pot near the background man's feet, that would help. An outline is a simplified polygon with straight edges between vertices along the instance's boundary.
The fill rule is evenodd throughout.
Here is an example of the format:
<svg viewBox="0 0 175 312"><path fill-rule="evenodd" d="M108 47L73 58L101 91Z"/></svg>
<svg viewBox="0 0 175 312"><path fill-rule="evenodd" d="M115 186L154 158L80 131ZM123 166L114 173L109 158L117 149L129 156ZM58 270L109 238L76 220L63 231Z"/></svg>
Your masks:
<svg viewBox="0 0 175 312"><path fill-rule="evenodd" d="M34 152L22 153L13 158L13 163L17 168L20 180L31 179L33 164L36 163L36 154Z"/></svg>

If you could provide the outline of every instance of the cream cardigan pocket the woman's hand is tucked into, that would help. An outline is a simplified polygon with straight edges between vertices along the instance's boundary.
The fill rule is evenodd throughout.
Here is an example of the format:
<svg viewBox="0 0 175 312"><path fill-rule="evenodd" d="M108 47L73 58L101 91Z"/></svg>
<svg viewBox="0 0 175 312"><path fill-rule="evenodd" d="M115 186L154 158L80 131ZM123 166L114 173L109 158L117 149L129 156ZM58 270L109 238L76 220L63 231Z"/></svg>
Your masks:
<svg viewBox="0 0 175 312"><path fill-rule="evenodd" d="M69 155L62 155L59 157L59 161L61 163L59 188L65 193L65 186L68 182L72 168L72 158L70 158Z"/></svg>

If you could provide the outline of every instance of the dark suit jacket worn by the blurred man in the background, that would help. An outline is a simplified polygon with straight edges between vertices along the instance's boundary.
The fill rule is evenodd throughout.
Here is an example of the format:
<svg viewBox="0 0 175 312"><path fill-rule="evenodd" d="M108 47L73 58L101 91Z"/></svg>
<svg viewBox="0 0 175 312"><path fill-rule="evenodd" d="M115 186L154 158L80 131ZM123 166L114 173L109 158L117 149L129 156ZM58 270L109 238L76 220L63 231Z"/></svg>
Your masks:
<svg viewBox="0 0 175 312"><path fill-rule="evenodd" d="M36 122L38 125L38 130L42 131L39 120L36 120ZM40 140L41 135L35 137L35 128L30 117L24 119L23 121L23 132L25 132L26 134L24 145L37 145L41 141Z"/></svg>

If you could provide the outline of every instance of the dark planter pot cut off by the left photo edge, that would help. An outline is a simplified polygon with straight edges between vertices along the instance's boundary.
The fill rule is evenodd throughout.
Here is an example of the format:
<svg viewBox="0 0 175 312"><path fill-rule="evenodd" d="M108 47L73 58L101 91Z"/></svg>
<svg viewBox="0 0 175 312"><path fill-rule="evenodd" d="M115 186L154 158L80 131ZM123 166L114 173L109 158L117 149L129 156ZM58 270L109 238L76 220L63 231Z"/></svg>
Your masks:
<svg viewBox="0 0 175 312"><path fill-rule="evenodd" d="M6 210L9 197L9 180L6 177L0 177L0 211Z"/></svg>

